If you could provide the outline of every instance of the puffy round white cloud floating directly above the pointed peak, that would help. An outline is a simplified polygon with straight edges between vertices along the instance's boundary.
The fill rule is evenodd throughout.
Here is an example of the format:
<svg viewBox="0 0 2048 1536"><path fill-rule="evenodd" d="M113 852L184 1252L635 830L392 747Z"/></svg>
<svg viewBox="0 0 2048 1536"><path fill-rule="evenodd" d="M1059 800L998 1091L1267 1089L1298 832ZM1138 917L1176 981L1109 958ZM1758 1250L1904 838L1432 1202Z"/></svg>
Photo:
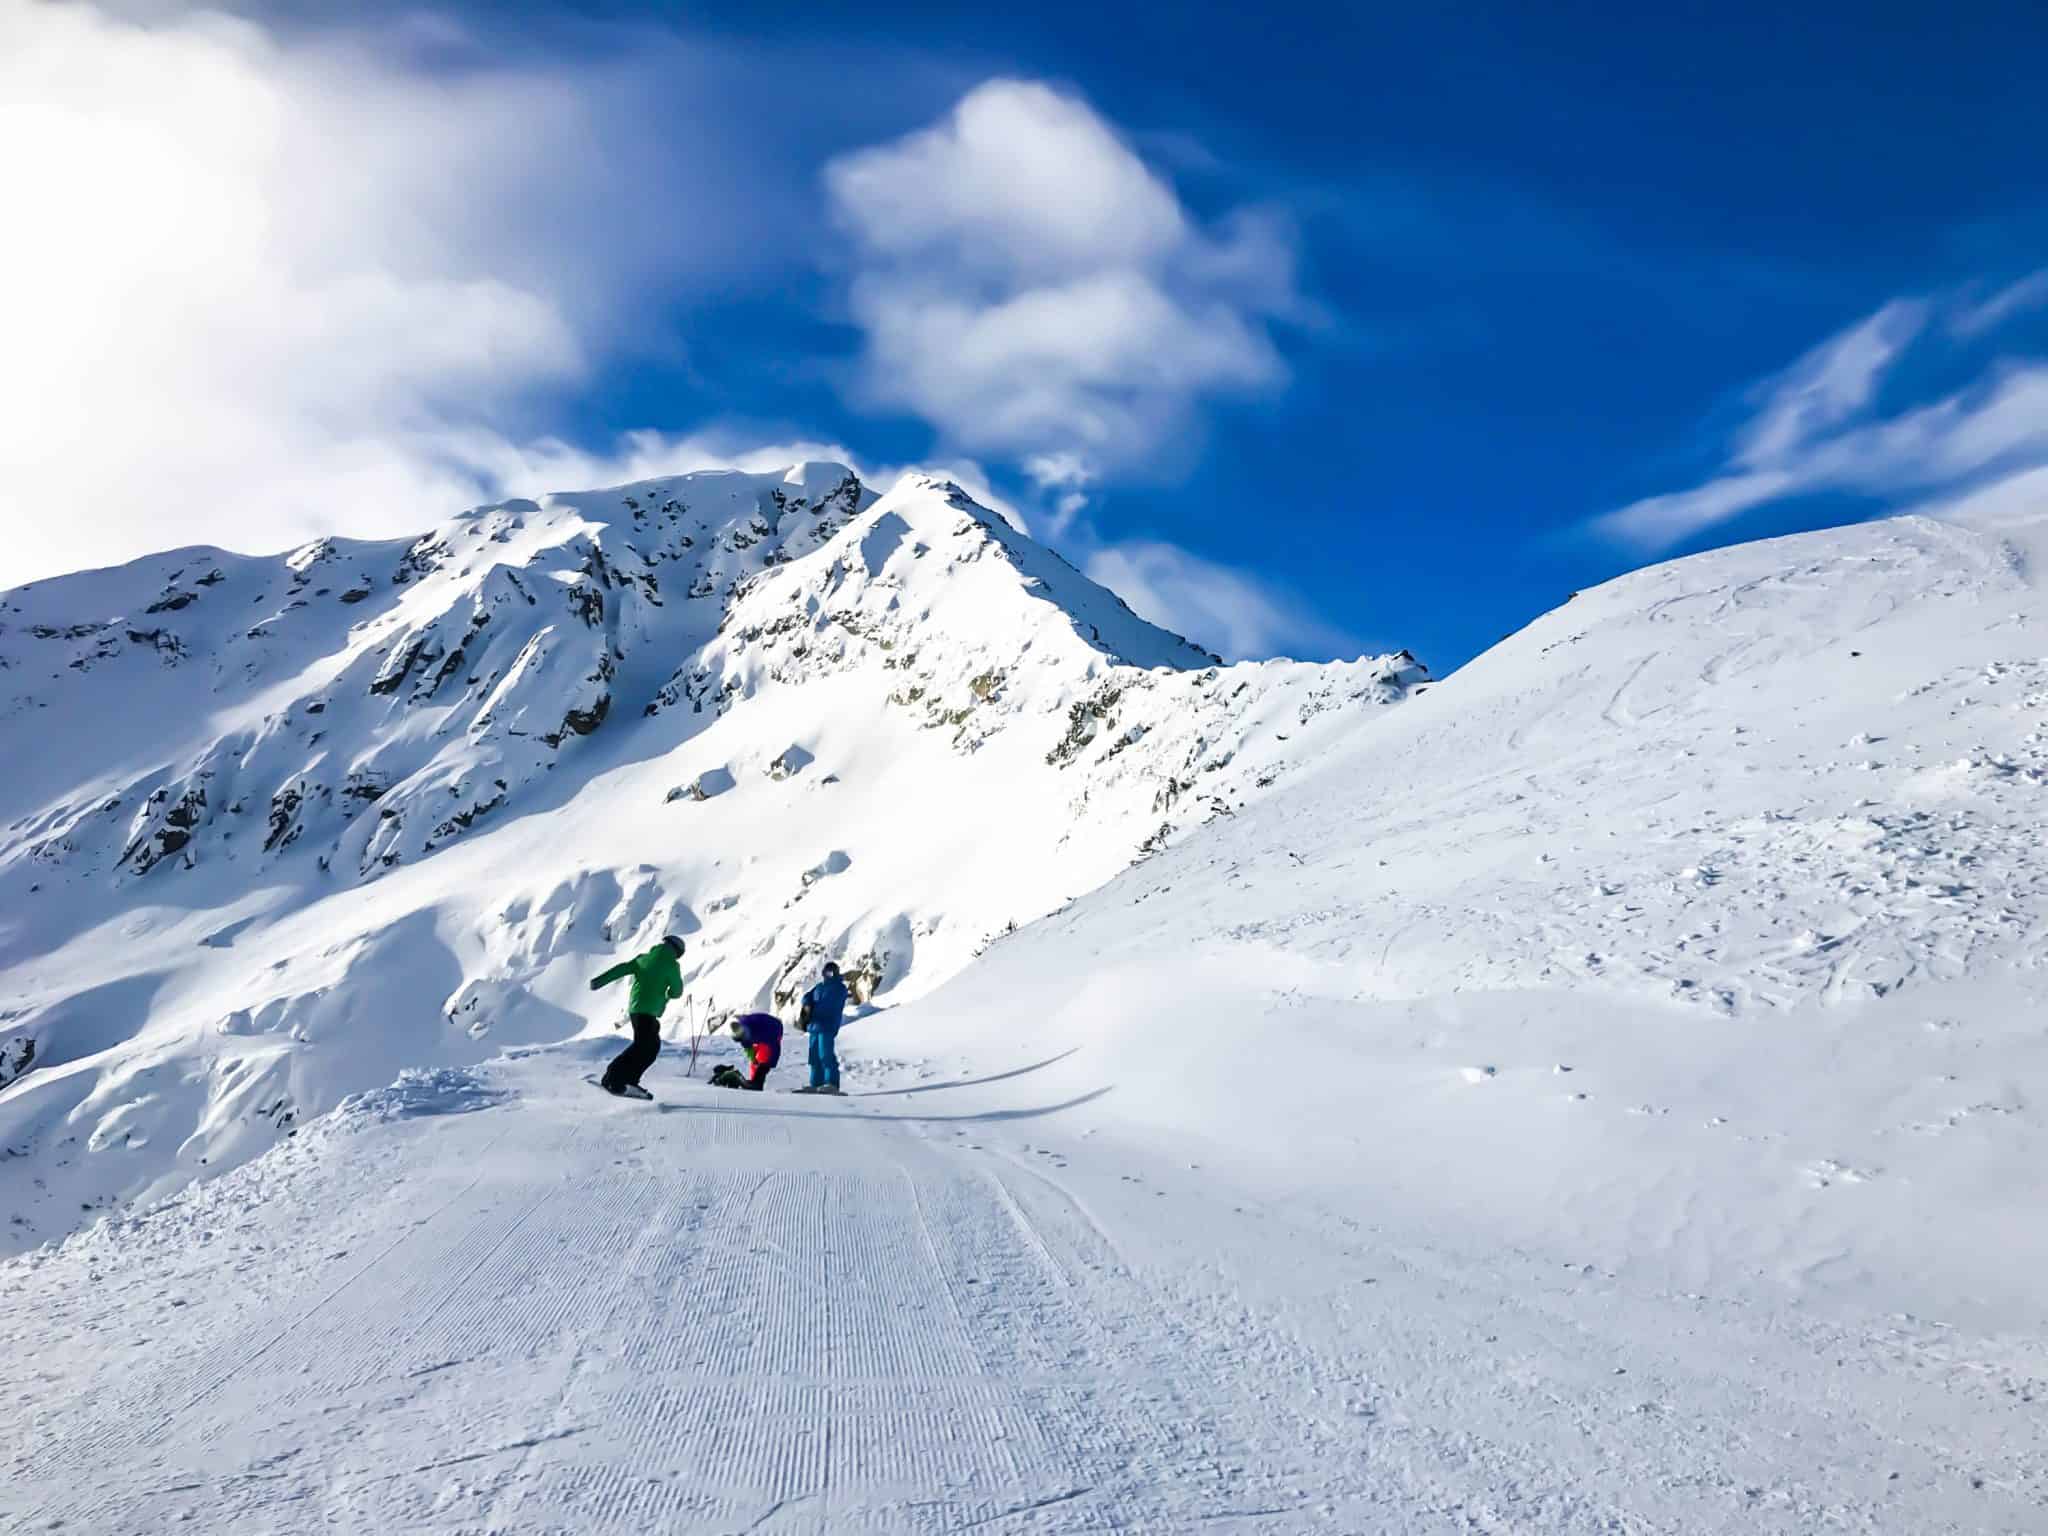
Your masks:
<svg viewBox="0 0 2048 1536"><path fill-rule="evenodd" d="M1085 102L993 80L938 125L827 166L852 242L872 401L1077 494L1157 453L1217 393L1284 379L1292 242L1200 227Z"/></svg>

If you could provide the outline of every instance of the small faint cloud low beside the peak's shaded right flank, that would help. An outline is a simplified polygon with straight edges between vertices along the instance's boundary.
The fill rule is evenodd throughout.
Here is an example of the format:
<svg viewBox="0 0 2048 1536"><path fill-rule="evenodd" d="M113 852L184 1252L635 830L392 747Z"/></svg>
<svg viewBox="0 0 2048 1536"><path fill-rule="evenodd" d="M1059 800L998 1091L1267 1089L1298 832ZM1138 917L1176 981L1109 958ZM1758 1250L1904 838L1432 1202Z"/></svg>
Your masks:
<svg viewBox="0 0 2048 1536"><path fill-rule="evenodd" d="M1321 623L1255 575L1178 545L1110 545L1090 555L1085 569L1141 618L1208 645L1231 662L1268 655L1323 659L1362 649L1354 637Z"/></svg>

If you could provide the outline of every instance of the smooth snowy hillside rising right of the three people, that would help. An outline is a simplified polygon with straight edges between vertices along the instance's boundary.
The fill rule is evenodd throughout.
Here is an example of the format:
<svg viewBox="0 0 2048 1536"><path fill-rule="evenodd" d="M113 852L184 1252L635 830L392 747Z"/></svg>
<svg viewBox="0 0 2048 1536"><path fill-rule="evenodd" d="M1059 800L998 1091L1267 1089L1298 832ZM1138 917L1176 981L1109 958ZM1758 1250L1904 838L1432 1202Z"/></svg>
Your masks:
<svg viewBox="0 0 2048 1536"><path fill-rule="evenodd" d="M868 1049L1028 1034L1092 1128L1389 1235L2038 1333L2044 569L1907 518L1583 592Z"/></svg>

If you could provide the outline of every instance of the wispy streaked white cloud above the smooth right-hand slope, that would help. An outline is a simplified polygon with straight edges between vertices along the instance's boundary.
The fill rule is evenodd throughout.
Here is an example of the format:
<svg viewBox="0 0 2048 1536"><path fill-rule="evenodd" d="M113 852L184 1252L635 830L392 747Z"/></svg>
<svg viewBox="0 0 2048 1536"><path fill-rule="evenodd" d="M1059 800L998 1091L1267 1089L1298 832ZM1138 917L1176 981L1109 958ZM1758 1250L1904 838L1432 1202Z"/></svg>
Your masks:
<svg viewBox="0 0 2048 1536"><path fill-rule="evenodd" d="M1954 299L1884 305L1753 391L1757 410L1735 436L1722 473L1632 502L1589 526L1653 553L1794 496L1995 492L2001 477L2048 461L2048 365L1993 362L1974 385L1931 403L1890 416L1872 408L1935 315L1948 313L1950 336L1980 336L2034 301L2032 283L1970 307Z"/></svg>

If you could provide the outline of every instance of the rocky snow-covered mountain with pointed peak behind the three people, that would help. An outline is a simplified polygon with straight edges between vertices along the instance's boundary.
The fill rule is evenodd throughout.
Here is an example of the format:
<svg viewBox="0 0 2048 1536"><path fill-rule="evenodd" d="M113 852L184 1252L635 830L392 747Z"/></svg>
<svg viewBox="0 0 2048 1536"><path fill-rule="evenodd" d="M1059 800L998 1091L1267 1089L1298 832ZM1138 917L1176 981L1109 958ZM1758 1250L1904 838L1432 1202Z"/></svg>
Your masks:
<svg viewBox="0 0 2048 1536"><path fill-rule="evenodd" d="M956 485L842 465L178 551L0 598L0 1243L401 1069L903 999L1284 782L1407 655L1223 668Z"/></svg>

